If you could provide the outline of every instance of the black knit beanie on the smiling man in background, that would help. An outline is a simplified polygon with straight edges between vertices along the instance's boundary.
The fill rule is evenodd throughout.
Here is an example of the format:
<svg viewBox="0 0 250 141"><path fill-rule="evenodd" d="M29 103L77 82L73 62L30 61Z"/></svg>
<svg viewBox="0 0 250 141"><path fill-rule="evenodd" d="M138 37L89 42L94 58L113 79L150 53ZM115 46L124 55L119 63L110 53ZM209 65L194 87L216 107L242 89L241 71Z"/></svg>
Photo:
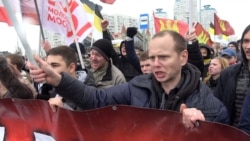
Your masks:
<svg viewBox="0 0 250 141"><path fill-rule="evenodd" d="M99 39L93 43L92 49L98 51L106 60L109 60L113 45L107 39Z"/></svg>

